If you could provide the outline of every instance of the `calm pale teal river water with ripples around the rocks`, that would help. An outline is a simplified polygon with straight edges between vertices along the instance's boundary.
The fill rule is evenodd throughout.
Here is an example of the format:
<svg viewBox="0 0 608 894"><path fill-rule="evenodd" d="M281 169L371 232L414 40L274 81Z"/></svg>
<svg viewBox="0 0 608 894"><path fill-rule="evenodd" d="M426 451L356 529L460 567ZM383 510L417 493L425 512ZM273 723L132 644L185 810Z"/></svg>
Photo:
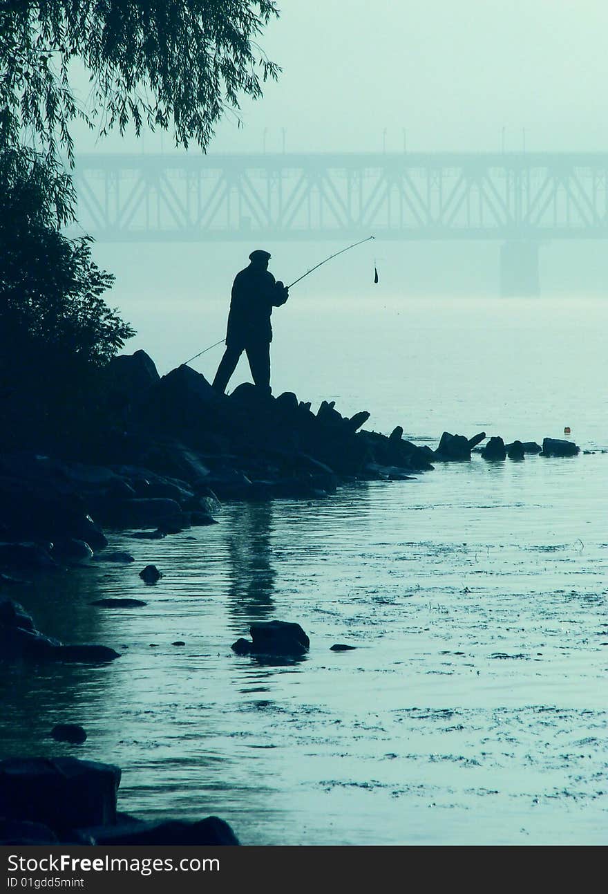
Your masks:
<svg viewBox="0 0 608 894"><path fill-rule="evenodd" d="M202 326L184 303L167 342L168 312L131 309L132 347L161 372L195 352L193 327L201 347L221 337L226 311ZM476 455L323 501L227 504L221 524L160 542L112 536L135 564L14 595L46 632L122 656L9 671L4 754L118 763L121 809L217 814L244 844L608 843L608 301L360 299L276 316L275 393L369 409L367 427L419 443L571 426L591 452ZM196 368L211 377L218 359ZM137 576L148 562L155 586ZM90 604L102 595L147 605ZM231 653L273 618L300 622L310 654ZM82 723L86 744L46 738L59 721Z"/></svg>

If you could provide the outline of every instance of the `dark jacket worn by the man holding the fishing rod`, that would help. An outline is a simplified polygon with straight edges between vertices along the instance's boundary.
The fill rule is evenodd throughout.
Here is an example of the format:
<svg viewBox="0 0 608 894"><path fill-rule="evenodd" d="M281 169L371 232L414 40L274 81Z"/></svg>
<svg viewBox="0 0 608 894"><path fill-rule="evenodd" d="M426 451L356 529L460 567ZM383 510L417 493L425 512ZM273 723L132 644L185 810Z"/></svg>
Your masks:
<svg viewBox="0 0 608 894"><path fill-rule="evenodd" d="M228 316L226 344L246 347L248 344L272 341L271 313L287 301L287 290L276 283L268 270L250 265L236 275Z"/></svg>

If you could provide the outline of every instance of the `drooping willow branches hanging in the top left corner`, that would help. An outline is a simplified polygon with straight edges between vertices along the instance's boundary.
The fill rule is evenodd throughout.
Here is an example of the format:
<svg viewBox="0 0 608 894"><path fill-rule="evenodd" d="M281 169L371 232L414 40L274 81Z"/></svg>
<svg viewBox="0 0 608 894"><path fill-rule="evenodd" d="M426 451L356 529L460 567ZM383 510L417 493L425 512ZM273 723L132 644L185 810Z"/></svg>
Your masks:
<svg viewBox="0 0 608 894"><path fill-rule="evenodd" d="M102 134L131 122L206 147L239 96L258 98L279 68L256 43L273 0L0 0L0 145L72 155L70 122ZM75 60L90 77L79 104Z"/></svg>

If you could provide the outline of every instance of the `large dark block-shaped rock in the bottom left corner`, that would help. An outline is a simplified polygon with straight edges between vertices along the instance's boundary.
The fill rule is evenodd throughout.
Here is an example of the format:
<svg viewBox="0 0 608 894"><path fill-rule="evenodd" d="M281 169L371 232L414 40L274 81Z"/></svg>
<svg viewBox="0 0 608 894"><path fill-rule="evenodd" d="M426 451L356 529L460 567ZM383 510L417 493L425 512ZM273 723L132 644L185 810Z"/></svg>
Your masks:
<svg viewBox="0 0 608 894"><path fill-rule="evenodd" d="M110 825L120 782L121 771L108 763L10 758L0 762L0 816L44 823L55 832Z"/></svg>

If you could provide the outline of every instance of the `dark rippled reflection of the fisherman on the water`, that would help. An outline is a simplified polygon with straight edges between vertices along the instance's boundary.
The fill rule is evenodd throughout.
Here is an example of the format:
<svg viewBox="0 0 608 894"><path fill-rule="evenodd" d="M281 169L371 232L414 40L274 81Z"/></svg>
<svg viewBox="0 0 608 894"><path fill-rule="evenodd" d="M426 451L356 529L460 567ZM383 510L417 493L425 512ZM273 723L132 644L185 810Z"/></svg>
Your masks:
<svg viewBox="0 0 608 894"><path fill-rule="evenodd" d="M271 503L245 503L229 538L229 608L239 631L243 620L266 620L274 611L271 524Z"/></svg>

